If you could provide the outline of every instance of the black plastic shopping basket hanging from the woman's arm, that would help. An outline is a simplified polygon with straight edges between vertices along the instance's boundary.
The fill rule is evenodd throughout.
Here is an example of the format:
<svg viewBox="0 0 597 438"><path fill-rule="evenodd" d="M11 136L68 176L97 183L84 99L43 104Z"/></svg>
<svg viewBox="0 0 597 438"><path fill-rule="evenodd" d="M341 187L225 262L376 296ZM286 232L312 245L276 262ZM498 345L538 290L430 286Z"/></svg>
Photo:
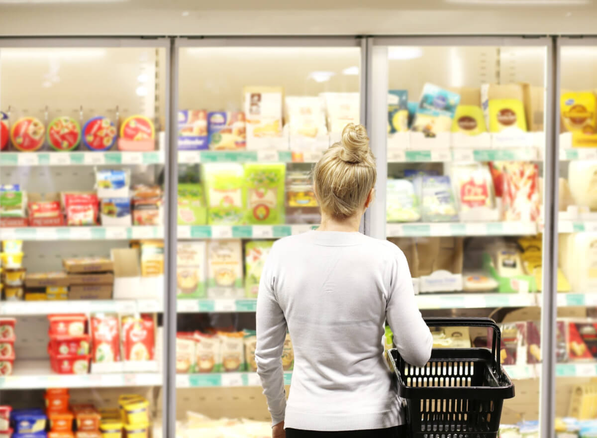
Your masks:
<svg viewBox="0 0 597 438"><path fill-rule="evenodd" d="M430 327L489 327L488 348L433 348L427 365L416 367L395 348L387 360L398 395L406 400L411 438L495 438L504 399L514 385L501 369L501 334L490 318L425 318Z"/></svg>

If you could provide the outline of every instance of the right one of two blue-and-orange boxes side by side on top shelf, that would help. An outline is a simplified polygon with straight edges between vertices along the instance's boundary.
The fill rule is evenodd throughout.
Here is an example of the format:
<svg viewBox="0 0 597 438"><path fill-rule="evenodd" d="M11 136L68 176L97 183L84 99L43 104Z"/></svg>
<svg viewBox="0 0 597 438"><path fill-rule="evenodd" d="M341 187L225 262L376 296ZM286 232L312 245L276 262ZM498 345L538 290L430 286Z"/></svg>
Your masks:
<svg viewBox="0 0 597 438"><path fill-rule="evenodd" d="M207 130L210 149L214 151L233 151L247 146L247 124L242 111L209 112Z"/></svg>

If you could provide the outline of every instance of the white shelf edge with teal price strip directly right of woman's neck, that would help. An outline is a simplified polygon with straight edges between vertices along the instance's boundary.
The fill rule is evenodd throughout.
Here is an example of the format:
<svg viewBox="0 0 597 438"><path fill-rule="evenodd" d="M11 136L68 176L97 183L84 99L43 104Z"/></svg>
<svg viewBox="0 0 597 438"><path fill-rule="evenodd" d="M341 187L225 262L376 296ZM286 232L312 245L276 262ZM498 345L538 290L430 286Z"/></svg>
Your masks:
<svg viewBox="0 0 597 438"><path fill-rule="evenodd" d="M387 237L535 235L536 222L387 223Z"/></svg>

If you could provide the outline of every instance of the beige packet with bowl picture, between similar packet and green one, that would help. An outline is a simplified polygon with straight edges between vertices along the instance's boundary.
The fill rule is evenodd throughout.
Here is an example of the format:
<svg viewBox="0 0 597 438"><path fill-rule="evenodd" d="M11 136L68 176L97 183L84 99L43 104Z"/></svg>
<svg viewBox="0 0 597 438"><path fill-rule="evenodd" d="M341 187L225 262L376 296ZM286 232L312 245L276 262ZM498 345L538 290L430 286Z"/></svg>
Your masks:
<svg viewBox="0 0 597 438"><path fill-rule="evenodd" d="M210 287L242 287L242 244L240 240L210 240L207 243Z"/></svg>

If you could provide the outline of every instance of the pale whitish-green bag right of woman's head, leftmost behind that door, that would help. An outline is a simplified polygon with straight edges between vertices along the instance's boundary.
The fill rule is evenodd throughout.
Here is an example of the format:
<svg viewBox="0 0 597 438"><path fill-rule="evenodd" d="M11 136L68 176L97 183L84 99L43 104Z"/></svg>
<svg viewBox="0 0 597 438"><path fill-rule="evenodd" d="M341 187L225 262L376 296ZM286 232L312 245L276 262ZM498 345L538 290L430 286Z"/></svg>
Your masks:
<svg viewBox="0 0 597 438"><path fill-rule="evenodd" d="M386 221L417 222L421 219L418 197L413 182L388 179L386 182Z"/></svg>

